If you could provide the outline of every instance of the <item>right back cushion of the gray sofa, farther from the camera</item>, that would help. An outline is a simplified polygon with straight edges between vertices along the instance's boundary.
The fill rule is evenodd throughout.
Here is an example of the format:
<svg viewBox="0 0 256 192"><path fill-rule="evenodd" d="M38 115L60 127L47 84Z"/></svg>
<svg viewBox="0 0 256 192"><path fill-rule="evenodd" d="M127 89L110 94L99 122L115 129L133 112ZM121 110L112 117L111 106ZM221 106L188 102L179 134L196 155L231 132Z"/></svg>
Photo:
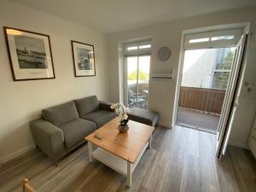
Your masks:
<svg viewBox="0 0 256 192"><path fill-rule="evenodd" d="M77 99L75 102L80 117L84 117L84 115L96 111L100 108L100 102L96 96L88 96L83 99Z"/></svg>

